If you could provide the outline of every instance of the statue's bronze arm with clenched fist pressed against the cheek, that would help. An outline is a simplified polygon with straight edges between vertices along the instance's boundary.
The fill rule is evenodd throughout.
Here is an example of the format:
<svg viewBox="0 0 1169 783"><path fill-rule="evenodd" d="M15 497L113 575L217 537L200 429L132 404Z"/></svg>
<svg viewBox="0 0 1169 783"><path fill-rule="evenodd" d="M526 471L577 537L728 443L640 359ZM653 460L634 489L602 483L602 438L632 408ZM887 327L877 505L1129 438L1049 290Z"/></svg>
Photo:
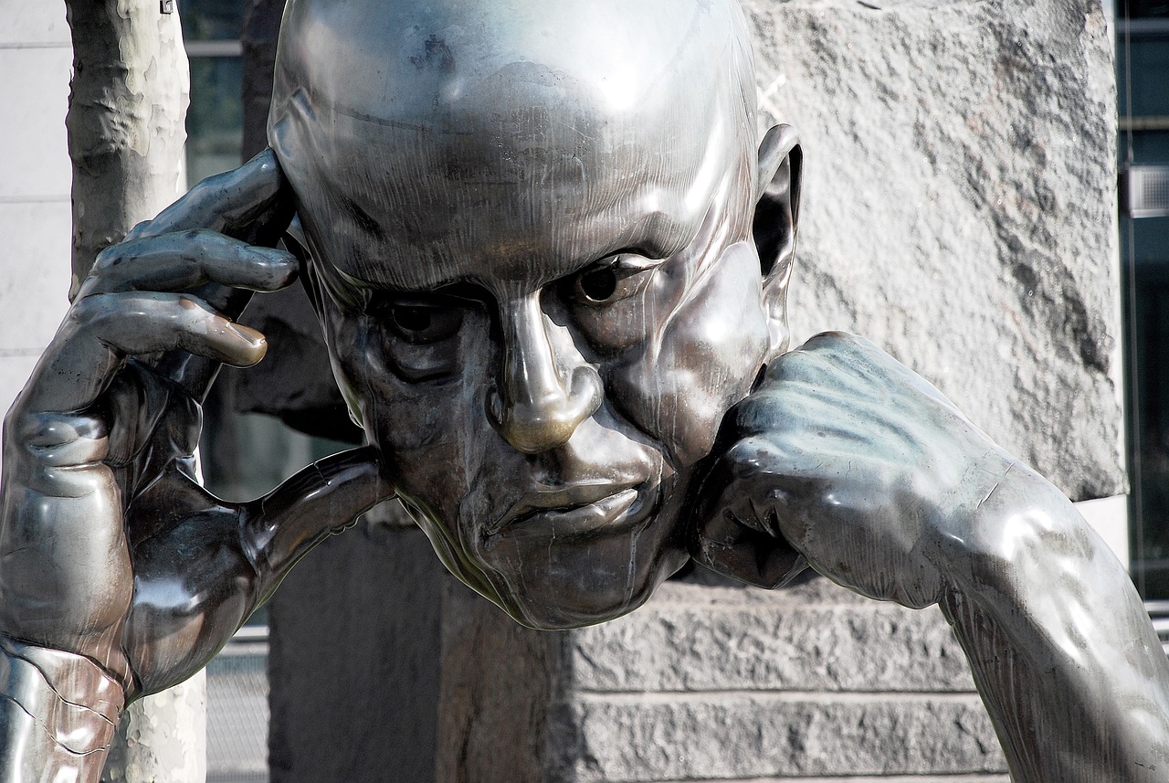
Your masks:
<svg viewBox="0 0 1169 783"><path fill-rule="evenodd" d="M1017 783L1163 781L1169 661L1072 504L935 388L844 334L782 356L725 422L691 550L776 587L805 564L936 603Z"/></svg>

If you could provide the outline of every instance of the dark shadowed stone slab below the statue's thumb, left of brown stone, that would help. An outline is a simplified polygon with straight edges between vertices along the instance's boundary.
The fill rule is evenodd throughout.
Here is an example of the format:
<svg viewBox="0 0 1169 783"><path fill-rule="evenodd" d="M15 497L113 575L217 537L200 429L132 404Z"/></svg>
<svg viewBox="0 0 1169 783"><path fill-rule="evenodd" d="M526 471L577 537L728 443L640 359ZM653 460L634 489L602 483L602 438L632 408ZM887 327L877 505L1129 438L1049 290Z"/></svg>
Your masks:
<svg viewBox="0 0 1169 783"><path fill-rule="evenodd" d="M442 567L417 528L359 525L269 604L272 783L433 783Z"/></svg>

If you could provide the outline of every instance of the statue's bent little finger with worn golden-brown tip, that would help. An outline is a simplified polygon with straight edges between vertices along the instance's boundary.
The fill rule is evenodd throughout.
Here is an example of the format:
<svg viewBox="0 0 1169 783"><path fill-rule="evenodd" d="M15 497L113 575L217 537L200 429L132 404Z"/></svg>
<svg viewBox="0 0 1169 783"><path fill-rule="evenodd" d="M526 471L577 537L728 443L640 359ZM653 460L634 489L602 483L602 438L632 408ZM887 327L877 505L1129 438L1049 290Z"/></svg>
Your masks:
<svg viewBox="0 0 1169 783"><path fill-rule="evenodd" d="M182 349L247 367L267 351L262 334L184 295L99 293L74 305L18 399L28 411L88 408L126 356Z"/></svg>

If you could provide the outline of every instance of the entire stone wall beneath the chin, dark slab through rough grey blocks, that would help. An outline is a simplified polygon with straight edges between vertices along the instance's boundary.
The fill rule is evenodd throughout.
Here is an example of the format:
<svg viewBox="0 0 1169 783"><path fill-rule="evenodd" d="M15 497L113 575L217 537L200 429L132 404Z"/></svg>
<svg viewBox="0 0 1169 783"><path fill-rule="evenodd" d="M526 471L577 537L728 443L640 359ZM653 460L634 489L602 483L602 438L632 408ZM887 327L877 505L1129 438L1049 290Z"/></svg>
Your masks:
<svg viewBox="0 0 1169 783"><path fill-rule="evenodd" d="M428 548L364 526L282 585L274 783L1007 783L936 609L696 570L628 617L540 632Z"/></svg>

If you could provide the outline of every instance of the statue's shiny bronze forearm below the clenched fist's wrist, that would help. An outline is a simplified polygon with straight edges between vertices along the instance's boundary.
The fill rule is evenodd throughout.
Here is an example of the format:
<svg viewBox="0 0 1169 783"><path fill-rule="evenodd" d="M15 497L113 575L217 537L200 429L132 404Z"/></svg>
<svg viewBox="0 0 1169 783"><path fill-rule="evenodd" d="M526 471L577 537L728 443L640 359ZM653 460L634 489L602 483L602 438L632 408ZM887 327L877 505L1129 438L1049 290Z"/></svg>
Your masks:
<svg viewBox="0 0 1169 783"><path fill-rule="evenodd" d="M940 602L1012 777L1163 781L1169 661L1140 597L1058 490L1025 470L1012 479L952 542L964 556L945 556L956 567Z"/></svg>

